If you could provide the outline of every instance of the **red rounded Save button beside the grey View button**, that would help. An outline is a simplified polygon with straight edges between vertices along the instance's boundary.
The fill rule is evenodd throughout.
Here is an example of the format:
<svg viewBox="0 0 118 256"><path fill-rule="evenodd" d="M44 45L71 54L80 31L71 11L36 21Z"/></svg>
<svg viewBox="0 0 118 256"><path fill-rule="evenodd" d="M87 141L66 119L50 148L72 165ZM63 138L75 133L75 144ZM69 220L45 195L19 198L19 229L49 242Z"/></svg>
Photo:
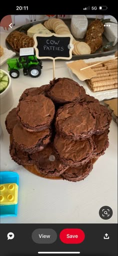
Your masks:
<svg viewBox="0 0 118 256"><path fill-rule="evenodd" d="M65 228L60 232L59 238L63 243L81 243L85 234L79 228Z"/></svg>

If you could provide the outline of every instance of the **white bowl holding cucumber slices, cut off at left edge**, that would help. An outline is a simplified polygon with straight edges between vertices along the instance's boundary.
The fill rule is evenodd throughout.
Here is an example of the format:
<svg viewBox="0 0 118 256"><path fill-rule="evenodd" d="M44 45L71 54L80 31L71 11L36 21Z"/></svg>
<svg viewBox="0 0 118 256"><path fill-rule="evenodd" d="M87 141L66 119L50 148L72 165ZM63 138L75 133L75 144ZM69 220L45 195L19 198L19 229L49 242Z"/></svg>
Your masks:
<svg viewBox="0 0 118 256"><path fill-rule="evenodd" d="M0 114L5 113L13 104L13 94L12 94L12 86L11 86L11 78L9 74L0 69L5 75L8 76L8 85L4 91L0 93Z"/></svg>

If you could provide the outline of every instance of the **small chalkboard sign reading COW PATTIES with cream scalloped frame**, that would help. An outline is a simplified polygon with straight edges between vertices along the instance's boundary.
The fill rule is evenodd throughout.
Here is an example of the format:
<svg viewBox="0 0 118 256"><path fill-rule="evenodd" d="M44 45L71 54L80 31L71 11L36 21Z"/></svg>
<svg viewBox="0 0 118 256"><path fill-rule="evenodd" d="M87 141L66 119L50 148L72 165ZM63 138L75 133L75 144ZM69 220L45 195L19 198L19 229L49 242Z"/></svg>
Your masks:
<svg viewBox="0 0 118 256"><path fill-rule="evenodd" d="M73 49L71 35L35 34L33 38L38 59L71 59Z"/></svg>

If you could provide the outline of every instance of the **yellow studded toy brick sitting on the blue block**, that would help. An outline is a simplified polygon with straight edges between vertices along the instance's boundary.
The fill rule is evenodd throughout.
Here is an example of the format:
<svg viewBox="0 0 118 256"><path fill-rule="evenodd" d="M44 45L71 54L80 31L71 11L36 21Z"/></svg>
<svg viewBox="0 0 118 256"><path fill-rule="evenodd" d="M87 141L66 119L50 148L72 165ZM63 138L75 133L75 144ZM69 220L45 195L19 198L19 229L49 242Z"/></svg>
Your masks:
<svg viewBox="0 0 118 256"><path fill-rule="evenodd" d="M17 204L18 186L16 183L0 184L0 205Z"/></svg>

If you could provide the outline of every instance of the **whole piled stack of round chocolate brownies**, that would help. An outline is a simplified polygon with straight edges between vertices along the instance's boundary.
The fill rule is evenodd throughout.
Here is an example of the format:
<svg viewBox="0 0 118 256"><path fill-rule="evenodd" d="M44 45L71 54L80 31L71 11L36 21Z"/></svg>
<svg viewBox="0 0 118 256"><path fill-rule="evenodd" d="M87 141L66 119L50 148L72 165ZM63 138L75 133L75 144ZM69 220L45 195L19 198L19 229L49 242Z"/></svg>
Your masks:
<svg viewBox="0 0 118 256"><path fill-rule="evenodd" d="M28 88L6 116L10 156L44 177L83 180L108 147L110 121L109 110L69 78Z"/></svg>

